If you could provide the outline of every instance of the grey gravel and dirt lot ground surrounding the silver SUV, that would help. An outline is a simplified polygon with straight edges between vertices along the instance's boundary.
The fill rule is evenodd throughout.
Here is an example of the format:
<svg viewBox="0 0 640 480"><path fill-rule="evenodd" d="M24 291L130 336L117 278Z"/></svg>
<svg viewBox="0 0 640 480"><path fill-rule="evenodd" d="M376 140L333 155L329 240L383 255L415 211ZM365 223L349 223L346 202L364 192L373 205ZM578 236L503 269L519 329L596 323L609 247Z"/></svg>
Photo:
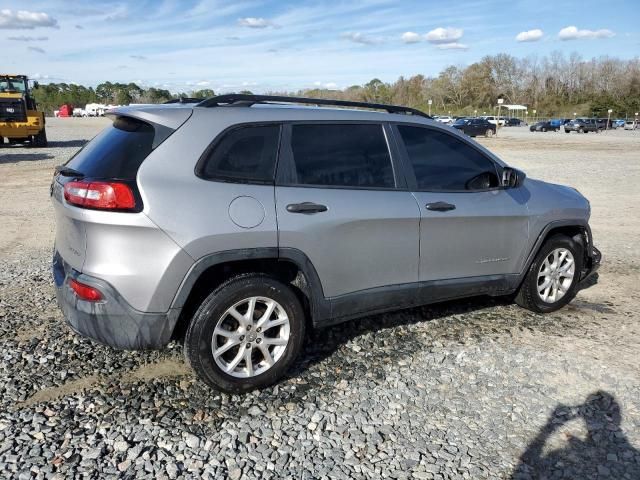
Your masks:
<svg viewBox="0 0 640 480"><path fill-rule="evenodd" d="M48 185L106 123L0 150L0 477L640 478L640 132L480 141L590 198L598 285L536 315L500 299L312 334L277 386L212 392L179 345L121 352L56 308Z"/></svg>

